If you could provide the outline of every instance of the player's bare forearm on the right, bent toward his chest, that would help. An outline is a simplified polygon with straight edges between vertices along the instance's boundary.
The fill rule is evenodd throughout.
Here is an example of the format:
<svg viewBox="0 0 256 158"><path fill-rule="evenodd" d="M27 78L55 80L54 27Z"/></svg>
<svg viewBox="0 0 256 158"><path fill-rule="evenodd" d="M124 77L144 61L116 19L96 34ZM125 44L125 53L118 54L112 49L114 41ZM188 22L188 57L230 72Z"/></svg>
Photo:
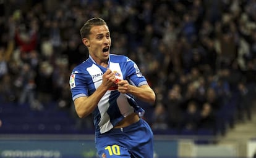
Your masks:
<svg viewBox="0 0 256 158"><path fill-rule="evenodd" d="M139 98L142 101L146 101L151 104L155 103L155 92L148 85L142 85L140 87L130 85L129 91L129 93L131 93L136 98Z"/></svg>

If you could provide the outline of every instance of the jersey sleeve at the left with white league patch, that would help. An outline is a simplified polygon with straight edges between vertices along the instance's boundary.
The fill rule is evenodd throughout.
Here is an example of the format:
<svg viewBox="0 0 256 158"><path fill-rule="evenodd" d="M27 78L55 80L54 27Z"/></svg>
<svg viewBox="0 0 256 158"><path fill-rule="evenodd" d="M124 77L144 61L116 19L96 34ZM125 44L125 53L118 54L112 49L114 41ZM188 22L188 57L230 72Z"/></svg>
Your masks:
<svg viewBox="0 0 256 158"><path fill-rule="evenodd" d="M69 85L72 93L72 100L88 96L88 87L84 84L86 77L83 76L85 76L85 74L78 73L77 71L73 71L70 75Z"/></svg>

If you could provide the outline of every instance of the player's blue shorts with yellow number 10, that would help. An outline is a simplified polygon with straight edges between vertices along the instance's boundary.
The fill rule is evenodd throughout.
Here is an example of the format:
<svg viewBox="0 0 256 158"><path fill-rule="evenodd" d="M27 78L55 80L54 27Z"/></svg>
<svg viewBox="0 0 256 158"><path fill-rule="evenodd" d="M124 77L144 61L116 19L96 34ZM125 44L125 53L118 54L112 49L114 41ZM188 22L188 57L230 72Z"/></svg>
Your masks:
<svg viewBox="0 0 256 158"><path fill-rule="evenodd" d="M153 132L143 119L98 135L95 142L100 158L153 158Z"/></svg>

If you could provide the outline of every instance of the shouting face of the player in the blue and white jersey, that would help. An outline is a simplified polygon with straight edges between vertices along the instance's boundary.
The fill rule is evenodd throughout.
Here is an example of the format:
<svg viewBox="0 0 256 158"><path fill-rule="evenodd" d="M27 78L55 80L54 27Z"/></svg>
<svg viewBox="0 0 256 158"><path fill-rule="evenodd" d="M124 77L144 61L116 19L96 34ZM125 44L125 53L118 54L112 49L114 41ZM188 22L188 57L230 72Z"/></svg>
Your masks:
<svg viewBox="0 0 256 158"><path fill-rule="evenodd" d="M109 57L111 45L110 33L108 26L93 26L88 39L83 39L90 55L99 65L106 63Z"/></svg>

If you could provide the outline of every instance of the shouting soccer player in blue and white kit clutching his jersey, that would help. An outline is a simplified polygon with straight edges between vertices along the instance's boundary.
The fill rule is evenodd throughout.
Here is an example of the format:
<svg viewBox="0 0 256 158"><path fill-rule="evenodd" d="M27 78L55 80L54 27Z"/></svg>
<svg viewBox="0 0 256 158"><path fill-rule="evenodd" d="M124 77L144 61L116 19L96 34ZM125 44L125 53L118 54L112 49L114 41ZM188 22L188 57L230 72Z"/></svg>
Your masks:
<svg viewBox="0 0 256 158"><path fill-rule="evenodd" d="M93 114L99 156L153 158L153 132L134 97L154 103L155 92L134 61L110 53L103 19L91 18L80 34L89 58L73 69L69 83L77 115Z"/></svg>

